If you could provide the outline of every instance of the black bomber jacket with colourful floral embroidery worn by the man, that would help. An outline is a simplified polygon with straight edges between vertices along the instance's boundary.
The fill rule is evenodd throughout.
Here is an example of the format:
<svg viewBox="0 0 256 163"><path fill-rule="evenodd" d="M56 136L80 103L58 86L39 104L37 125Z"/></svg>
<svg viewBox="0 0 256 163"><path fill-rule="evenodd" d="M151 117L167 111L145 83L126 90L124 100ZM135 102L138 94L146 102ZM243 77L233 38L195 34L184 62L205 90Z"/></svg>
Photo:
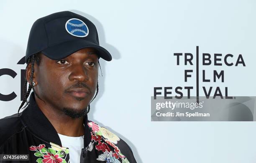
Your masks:
<svg viewBox="0 0 256 163"><path fill-rule="evenodd" d="M80 163L136 163L131 148L118 136L88 120L87 115L84 126ZM11 158L0 161L3 163L70 163L69 148L61 146L58 133L38 108L33 92L23 112L0 119L0 154L26 154L29 160Z"/></svg>

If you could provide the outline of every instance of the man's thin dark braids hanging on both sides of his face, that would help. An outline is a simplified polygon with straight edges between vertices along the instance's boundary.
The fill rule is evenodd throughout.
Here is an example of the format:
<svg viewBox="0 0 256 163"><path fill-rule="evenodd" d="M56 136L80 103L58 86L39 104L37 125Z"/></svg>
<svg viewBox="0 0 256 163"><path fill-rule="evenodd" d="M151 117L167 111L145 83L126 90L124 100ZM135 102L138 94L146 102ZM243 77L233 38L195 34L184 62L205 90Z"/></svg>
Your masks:
<svg viewBox="0 0 256 163"><path fill-rule="evenodd" d="M41 62L41 53L36 53L36 54L34 54L34 55L31 55L29 58L28 58L28 63L27 63L27 66L26 66L26 70L25 70L25 75L24 75L24 78L25 78L25 84L24 84L24 98L23 98L23 101L22 101L22 103L21 103L21 105L20 105L20 107L19 107L19 109L18 109L18 113L19 113L19 111L20 111L20 109L23 109L23 108L25 108L27 105L28 105L28 103L29 103L29 101L27 101L27 99L28 99L28 96L30 95L30 92L31 92L31 89L33 89L33 92L35 93L35 95L39 98L39 99L41 99L38 95L37 95L37 93L36 93L36 91L35 91L35 89L34 89L34 86L33 86L33 84L32 85L28 85L28 91L27 91L27 80L26 80L26 71L27 71L27 68L28 68L28 65L29 65L29 63L31 63L31 77L30 77L30 82L31 83L33 83L33 74L34 74L34 64L35 64L35 62L36 62L36 64L37 65L39 65L40 64L40 62ZM100 62L99 62L99 60L98 60L98 65L100 66ZM100 71L101 71L101 67L100 67ZM102 75L102 71L101 71L101 75ZM98 82L97 82L97 87L96 87L96 94L95 94L95 96L94 96L94 98L91 100L91 102L96 98L96 96L97 96L97 94L98 94L98 91L99 91L99 84L98 84ZM90 102L90 103L91 103ZM22 108L22 106L24 105L26 103L26 105ZM89 103L89 105L88 105L88 110L87 110L87 112L86 113L89 113L90 112L90 103Z"/></svg>

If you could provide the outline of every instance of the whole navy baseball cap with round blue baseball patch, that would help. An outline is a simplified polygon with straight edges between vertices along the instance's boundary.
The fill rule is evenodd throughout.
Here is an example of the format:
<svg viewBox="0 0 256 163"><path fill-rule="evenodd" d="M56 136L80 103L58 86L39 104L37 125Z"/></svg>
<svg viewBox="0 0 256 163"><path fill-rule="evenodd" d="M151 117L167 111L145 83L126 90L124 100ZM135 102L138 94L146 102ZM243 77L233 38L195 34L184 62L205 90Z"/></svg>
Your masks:
<svg viewBox="0 0 256 163"><path fill-rule="evenodd" d="M83 48L94 48L100 58L112 60L108 50L99 45L95 25L81 15L63 11L35 21L30 30L25 60L28 63L28 57L38 52L60 60Z"/></svg>

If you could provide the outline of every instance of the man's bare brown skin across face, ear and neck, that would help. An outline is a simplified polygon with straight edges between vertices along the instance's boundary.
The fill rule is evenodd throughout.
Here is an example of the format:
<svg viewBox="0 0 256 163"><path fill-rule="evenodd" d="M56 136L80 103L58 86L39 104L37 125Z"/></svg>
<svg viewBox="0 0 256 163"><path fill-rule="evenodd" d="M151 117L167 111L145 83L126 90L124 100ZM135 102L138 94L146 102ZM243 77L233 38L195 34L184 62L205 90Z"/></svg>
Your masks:
<svg viewBox="0 0 256 163"><path fill-rule="evenodd" d="M31 63L26 71L29 84L30 77ZM34 88L41 99L35 96L35 100L57 133L84 135L83 117L71 118L63 108L78 113L86 109L95 94L97 80L98 56L93 48L84 48L61 60L41 54L41 62L39 66L34 64L33 73Z"/></svg>

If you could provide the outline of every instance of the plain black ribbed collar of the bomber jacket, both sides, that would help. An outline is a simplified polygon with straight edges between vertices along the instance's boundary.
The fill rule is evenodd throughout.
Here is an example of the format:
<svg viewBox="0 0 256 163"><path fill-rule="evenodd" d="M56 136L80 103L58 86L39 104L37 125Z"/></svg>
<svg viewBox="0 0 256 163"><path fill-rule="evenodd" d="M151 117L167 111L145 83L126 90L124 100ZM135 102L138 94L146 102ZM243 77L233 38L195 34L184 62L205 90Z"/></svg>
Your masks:
<svg viewBox="0 0 256 163"><path fill-rule="evenodd" d="M47 141L48 143L52 142L57 145L61 145L61 140L57 131L51 122L46 118L44 113L38 107L35 100L35 93L32 92L29 98L28 107L23 110L22 115L20 116L21 120L28 129L36 135L38 138ZM91 140L91 129L87 125L88 117L84 116L84 148L86 148Z"/></svg>

